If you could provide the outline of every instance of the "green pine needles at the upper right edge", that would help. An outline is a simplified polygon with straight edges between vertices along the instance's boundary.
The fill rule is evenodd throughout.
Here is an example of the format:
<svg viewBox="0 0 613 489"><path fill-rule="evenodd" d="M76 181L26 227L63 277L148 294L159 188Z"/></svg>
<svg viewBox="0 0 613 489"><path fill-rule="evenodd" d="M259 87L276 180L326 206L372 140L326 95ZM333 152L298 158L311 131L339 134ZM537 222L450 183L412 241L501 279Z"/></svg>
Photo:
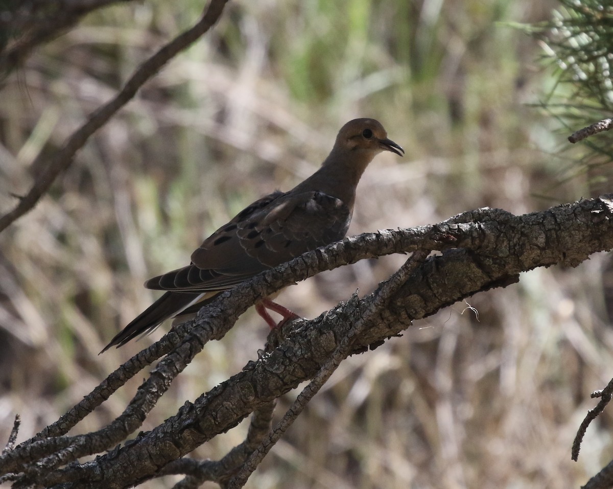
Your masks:
<svg viewBox="0 0 613 489"><path fill-rule="evenodd" d="M596 0L560 0L552 20L527 28L541 40L544 58L554 64L556 82L541 105L574 132L613 112L613 6ZM613 134L594 135L573 153L569 176L588 174L588 183L606 187L613 179ZM580 161L581 164L576 164Z"/></svg>

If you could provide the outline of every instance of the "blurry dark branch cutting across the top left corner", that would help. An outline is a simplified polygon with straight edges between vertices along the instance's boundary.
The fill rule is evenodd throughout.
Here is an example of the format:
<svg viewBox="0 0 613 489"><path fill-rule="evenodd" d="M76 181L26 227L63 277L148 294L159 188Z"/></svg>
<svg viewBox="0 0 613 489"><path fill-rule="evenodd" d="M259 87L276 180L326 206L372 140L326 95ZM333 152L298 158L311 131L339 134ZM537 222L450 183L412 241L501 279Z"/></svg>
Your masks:
<svg viewBox="0 0 613 489"><path fill-rule="evenodd" d="M0 4L0 78L23 64L37 46L60 36L88 13L129 1L6 0Z"/></svg>

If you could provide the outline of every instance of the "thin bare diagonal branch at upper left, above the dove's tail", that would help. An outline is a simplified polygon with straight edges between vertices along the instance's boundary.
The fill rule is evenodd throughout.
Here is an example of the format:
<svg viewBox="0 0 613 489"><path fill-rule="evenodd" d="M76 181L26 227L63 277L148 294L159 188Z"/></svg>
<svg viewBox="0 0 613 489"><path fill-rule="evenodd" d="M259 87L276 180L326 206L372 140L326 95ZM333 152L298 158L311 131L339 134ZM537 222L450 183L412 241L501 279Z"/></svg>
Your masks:
<svg viewBox="0 0 613 489"><path fill-rule="evenodd" d="M48 158L43 156L42 153L37 156L32 165L45 170L40 173L32 188L20 199L17 206L0 218L0 232L34 208L34 205L48 191L59 173L69 167L75 153L85 145L89 136L104 126L121 107L126 105L134 97L138 89L149 78L158 73L164 64L192 44L192 42L196 41L215 24L226 2L227 0L211 0L208 9L196 25L175 37L169 44L147 59L126 82L120 93L114 99L107 102L107 104L93 112L86 123L67 138L62 148Z"/></svg>

